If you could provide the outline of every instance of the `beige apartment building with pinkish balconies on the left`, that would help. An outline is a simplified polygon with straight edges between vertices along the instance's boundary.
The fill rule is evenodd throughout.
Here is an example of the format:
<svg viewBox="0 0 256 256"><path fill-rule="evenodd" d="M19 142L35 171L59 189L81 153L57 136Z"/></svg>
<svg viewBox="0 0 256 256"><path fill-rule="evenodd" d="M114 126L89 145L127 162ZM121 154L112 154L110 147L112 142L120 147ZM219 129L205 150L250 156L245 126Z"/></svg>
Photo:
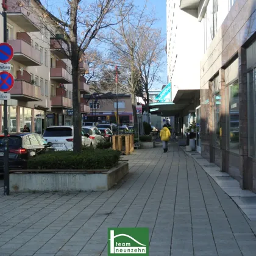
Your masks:
<svg viewBox="0 0 256 256"><path fill-rule="evenodd" d="M30 12L30 6L39 10L40 5L40 1L34 0L8 1L7 43L14 51L10 73L15 78L9 91L9 132L20 132L25 124L40 134L48 126L73 124L73 117L68 115L73 104L71 62L63 51L66 41L51 21L41 24L36 12ZM0 20L1 25L2 18ZM88 71L85 62L80 63L80 68ZM83 76L79 88L81 96L90 93ZM3 104L0 101L0 132L4 129ZM81 112L89 112L89 107L82 102Z"/></svg>

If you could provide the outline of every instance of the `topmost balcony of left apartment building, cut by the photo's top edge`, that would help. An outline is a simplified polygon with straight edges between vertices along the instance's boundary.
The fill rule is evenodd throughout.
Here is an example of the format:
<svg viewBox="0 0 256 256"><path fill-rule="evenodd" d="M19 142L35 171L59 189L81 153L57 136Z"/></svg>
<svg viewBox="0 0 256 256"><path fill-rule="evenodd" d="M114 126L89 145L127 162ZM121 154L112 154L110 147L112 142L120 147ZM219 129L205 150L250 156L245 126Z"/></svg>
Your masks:
<svg viewBox="0 0 256 256"><path fill-rule="evenodd" d="M7 18L15 24L22 25L27 32L39 32L41 29L38 26L38 17L32 12L29 2L29 0L8 0Z"/></svg>

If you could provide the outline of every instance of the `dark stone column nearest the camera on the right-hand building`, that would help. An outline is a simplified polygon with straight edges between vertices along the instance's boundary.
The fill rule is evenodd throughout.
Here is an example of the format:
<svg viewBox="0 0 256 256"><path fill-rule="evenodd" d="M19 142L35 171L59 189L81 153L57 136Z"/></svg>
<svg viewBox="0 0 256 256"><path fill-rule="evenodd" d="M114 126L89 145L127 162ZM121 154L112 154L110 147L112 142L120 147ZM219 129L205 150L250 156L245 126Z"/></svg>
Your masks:
<svg viewBox="0 0 256 256"><path fill-rule="evenodd" d="M246 49L238 51L239 74L239 154L240 154L240 186L243 189L252 189L252 169L248 163L248 115L247 115L247 67Z"/></svg>

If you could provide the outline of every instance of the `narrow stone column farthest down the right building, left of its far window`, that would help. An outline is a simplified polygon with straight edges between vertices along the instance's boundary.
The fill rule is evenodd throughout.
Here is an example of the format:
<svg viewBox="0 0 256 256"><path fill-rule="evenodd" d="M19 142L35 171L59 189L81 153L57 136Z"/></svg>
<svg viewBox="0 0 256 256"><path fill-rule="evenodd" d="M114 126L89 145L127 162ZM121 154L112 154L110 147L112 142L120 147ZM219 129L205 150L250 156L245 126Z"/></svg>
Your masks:
<svg viewBox="0 0 256 256"><path fill-rule="evenodd" d="M208 82L208 99L209 99L209 118L208 118L208 127L209 127L209 144L210 144L210 163L214 162L215 159L215 151L213 149L213 133L215 132L215 125L213 122L213 90L212 90L212 81Z"/></svg>

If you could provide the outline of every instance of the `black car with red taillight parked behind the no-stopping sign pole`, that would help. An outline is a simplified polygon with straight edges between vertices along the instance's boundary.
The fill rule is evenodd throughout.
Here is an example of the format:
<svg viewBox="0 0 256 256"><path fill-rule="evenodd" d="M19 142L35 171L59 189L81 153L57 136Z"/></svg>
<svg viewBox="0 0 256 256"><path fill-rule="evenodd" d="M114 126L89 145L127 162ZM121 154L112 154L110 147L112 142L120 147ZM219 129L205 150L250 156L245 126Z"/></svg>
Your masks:
<svg viewBox="0 0 256 256"><path fill-rule="evenodd" d="M26 169L27 160L38 154L55 151L51 142L47 142L37 133L9 133L9 169ZM0 135L0 173L4 170L4 135Z"/></svg>

